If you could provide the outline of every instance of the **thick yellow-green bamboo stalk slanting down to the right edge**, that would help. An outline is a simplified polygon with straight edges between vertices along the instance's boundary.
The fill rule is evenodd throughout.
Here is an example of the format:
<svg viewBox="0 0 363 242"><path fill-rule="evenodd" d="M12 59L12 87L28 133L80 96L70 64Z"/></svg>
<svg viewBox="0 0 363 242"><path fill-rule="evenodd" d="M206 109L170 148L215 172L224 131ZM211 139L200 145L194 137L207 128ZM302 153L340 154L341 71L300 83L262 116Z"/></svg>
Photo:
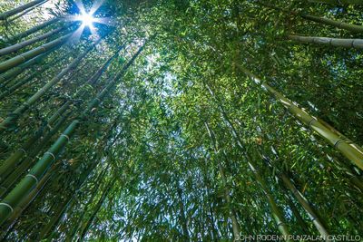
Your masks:
<svg viewBox="0 0 363 242"><path fill-rule="evenodd" d="M358 144L355 144L352 140L348 140L347 137L340 135L338 131L334 130L331 126L328 127L325 122L319 121L319 119L311 116L307 111L300 109L296 104L289 101L289 99L285 98L280 92L277 92L266 82L262 82L258 76L250 73L250 71L244 67L240 66L240 69L246 73L253 82L256 82L264 90L270 92L270 94L281 102L299 121L308 125L311 130L318 132L322 138L328 140L329 144L339 150L348 160L351 160L358 168L363 169L363 151Z"/></svg>

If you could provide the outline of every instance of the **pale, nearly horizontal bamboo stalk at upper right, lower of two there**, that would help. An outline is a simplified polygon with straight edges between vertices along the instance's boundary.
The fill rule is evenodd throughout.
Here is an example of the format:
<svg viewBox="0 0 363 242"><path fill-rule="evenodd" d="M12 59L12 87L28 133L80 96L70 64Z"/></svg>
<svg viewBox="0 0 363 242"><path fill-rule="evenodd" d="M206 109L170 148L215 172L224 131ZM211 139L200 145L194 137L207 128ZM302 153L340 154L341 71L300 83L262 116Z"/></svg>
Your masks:
<svg viewBox="0 0 363 242"><path fill-rule="evenodd" d="M336 47L363 49L363 39L338 39L327 37L310 37L300 35L289 35L289 40L299 43L323 44Z"/></svg>

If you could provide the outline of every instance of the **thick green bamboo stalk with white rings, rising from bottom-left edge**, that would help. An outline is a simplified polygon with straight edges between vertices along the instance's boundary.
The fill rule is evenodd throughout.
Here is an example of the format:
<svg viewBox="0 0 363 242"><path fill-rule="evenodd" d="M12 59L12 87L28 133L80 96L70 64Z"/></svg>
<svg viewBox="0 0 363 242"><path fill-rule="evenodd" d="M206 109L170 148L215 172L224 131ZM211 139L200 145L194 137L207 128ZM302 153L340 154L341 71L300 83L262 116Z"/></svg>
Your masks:
<svg viewBox="0 0 363 242"><path fill-rule="evenodd" d="M87 117L90 111L93 110L100 102L103 101L103 98L111 92L113 86L119 81L119 79L123 76L123 73L127 71L127 69L132 65L136 57L142 52L144 48L144 44L142 47L132 56L132 59L129 63L123 66L123 69L120 73L116 74L116 76L111 80L107 86L100 92L93 102L91 102L88 107L83 111L81 115L81 119L83 120ZM25 198L36 186L38 181L42 179L44 173L52 166L54 161L56 160L56 156L60 153L61 150L64 149L65 144L70 140L74 131L79 126L80 121L74 120L64 131L64 133L54 142L52 147L44 153L44 156L41 160L34 165L33 169L29 171L29 173L22 179L19 184L10 191L10 193L0 202L0 225L5 222L5 220L11 216L14 211L14 208L19 204L19 201L22 198Z"/></svg>

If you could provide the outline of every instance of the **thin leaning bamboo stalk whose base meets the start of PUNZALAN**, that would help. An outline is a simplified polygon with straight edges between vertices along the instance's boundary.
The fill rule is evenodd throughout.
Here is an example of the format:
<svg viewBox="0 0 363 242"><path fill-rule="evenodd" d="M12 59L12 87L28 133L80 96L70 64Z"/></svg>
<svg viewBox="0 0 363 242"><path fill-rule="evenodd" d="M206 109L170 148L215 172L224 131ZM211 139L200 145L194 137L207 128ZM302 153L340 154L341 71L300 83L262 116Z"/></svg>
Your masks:
<svg viewBox="0 0 363 242"><path fill-rule="evenodd" d="M211 97L213 98L213 100L216 102L216 104L218 105L220 111L221 111L221 116L223 118L223 120L226 122L227 126L230 128L231 134L233 139L236 141L237 143L237 147L240 150L240 152L246 157L247 163L250 167L250 170L252 171L252 173L254 174L256 180L260 183L261 188L263 189L266 198L269 201L270 204L270 208L271 208L271 213L273 218L275 219L275 222L277 224L277 227L279 228L281 234L285 237L289 237L289 228L286 225L285 222L285 218L283 215L283 212L280 210L279 206L276 204L269 187L267 186L266 182L264 179L262 179L262 177L260 176L260 171L257 169L257 163L255 162L255 157L251 157L250 153L247 152L247 150L244 148L243 146L243 142L242 140L240 140L240 135L238 134L238 132L236 131L236 129L234 128L234 125L232 124L232 122L230 121L227 113L224 111L223 107L221 106L221 101L220 99L214 94L214 92L211 90L210 86L207 83L204 83L206 88L208 89L208 91L211 94ZM257 150L255 150L254 147L252 147L252 151L253 151L253 155L256 156L256 152Z"/></svg>

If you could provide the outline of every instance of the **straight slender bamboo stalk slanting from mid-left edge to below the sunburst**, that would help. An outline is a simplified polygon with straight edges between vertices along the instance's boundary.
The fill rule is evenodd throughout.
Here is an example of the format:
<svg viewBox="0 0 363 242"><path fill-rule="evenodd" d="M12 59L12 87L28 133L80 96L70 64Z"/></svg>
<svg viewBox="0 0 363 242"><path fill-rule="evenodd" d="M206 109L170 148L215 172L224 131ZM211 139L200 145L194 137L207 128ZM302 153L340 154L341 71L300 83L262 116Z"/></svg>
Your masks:
<svg viewBox="0 0 363 242"><path fill-rule="evenodd" d="M93 48L101 42L101 40L102 39L99 39L92 46L88 47L83 53L80 53L72 63L68 64L68 66L65 67L56 76L54 76L54 78L50 82L46 83L42 89L34 93L32 97L30 97L26 102L21 104L4 121L2 121L0 123L0 134L6 131L8 127L15 124L15 122L20 118L20 116L24 114L25 111L27 111L30 108L30 106L34 104L34 102L38 101L44 95L45 92L49 91L57 82L60 82L66 73L73 71L74 68L77 67L77 65L82 62L83 57L86 56L88 53L90 53L93 50Z"/></svg>

